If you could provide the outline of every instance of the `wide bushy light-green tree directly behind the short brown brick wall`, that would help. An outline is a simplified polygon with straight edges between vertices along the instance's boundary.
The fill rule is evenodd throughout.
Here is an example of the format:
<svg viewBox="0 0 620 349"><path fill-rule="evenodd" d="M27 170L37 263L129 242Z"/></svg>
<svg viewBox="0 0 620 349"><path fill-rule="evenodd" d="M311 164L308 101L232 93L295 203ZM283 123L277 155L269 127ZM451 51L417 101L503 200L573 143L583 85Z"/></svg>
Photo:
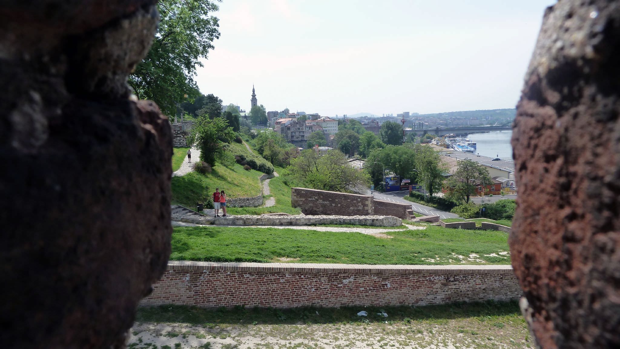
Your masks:
<svg viewBox="0 0 620 349"><path fill-rule="evenodd" d="M290 174L309 188L332 192L353 192L368 185L368 174L347 164L342 152L330 150L321 155L311 149L304 150L291 161Z"/></svg>

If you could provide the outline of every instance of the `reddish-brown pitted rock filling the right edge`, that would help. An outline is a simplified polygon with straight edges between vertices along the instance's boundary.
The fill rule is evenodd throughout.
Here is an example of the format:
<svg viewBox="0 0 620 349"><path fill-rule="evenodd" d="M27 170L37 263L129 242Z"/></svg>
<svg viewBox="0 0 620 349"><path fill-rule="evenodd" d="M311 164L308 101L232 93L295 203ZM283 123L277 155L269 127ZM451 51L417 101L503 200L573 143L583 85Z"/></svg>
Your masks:
<svg viewBox="0 0 620 349"><path fill-rule="evenodd" d="M542 348L620 345L620 1L547 9L518 103L513 267Z"/></svg>

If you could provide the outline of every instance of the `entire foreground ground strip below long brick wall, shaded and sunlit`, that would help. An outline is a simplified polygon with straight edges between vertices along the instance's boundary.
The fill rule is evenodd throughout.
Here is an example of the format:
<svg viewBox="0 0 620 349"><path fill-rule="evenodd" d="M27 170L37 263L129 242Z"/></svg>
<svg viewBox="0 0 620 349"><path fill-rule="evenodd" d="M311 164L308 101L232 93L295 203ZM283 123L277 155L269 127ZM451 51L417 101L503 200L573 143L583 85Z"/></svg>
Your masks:
<svg viewBox="0 0 620 349"><path fill-rule="evenodd" d="M368 317L357 316L365 310ZM385 311L387 318L376 313ZM138 307L130 348L531 348L516 302L296 309Z"/></svg>

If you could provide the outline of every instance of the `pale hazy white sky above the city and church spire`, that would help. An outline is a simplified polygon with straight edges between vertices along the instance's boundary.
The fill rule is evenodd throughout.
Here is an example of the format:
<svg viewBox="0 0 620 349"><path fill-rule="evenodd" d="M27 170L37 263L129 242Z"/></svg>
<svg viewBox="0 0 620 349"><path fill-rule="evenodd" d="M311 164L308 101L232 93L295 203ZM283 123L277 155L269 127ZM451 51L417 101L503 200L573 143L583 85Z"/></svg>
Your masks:
<svg viewBox="0 0 620 349"><path fill-rule="evenodd" d="M223 0L196 80L249 112L513 108L554 0Z"/></svg>

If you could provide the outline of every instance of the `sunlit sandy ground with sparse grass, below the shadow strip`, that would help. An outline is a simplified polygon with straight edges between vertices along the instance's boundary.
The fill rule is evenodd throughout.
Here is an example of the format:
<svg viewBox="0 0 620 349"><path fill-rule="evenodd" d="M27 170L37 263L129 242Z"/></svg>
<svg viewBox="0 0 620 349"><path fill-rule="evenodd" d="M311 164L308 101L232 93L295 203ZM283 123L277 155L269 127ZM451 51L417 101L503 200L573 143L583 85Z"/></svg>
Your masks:
<svg viewBox="0 0 620 349"><path fill-rule="evenodd" d="M135 324L130 348L528 348L529 333L522 320L497 322L466 318L427 321L387 321L365 324ZM156 347L154 347L156 346Z"/></svg>

